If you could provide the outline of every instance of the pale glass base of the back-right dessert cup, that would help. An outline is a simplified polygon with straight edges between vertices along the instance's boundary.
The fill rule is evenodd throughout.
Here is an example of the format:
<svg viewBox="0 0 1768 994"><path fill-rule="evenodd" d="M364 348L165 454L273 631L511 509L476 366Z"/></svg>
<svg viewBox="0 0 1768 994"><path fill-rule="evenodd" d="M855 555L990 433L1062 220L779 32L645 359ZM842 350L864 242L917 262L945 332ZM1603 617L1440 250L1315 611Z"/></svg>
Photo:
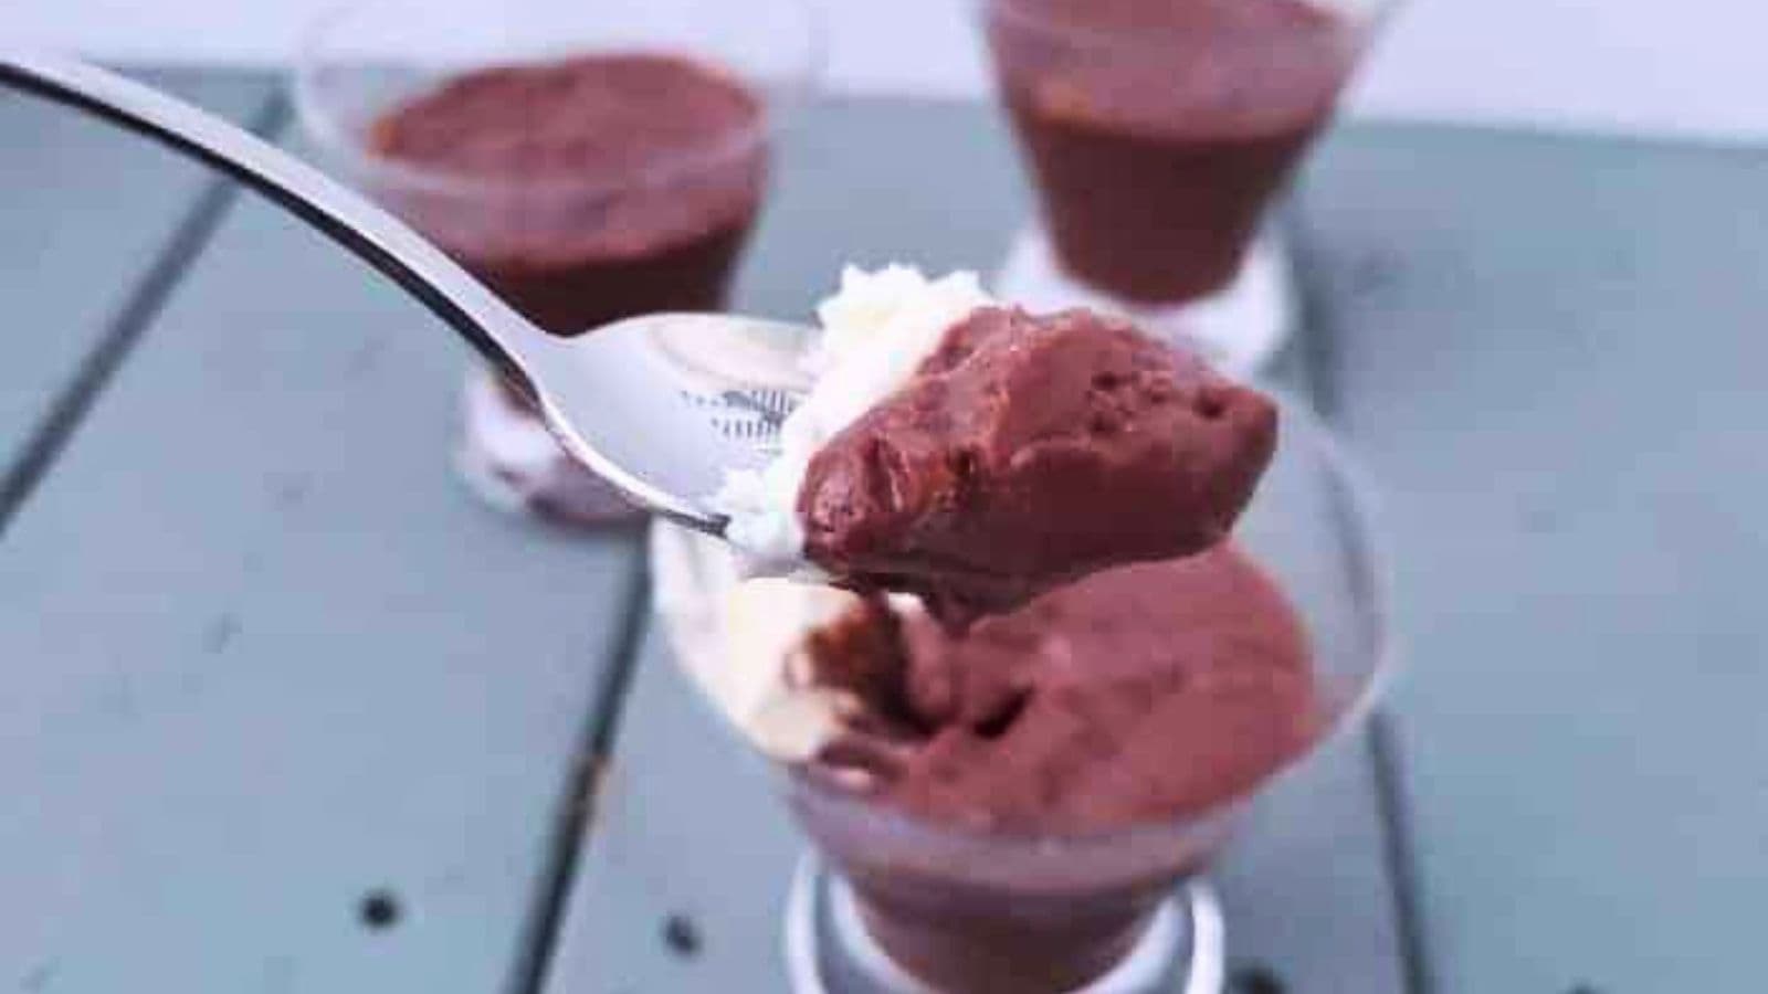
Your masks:
<svg viewBox="0 0 1768 994"><path fill-rule="evenodd" d="M1132 304L1063 272L1041 225L1013 239L994 294L1034 311L1091 308L1117 313L1172 343L1190 345L1236 378L1262 371L1287 341L1296 318L1294 278L1284 239L1264 230L1246 251L1239 276L1200 301L1174 306Z"/></svg>

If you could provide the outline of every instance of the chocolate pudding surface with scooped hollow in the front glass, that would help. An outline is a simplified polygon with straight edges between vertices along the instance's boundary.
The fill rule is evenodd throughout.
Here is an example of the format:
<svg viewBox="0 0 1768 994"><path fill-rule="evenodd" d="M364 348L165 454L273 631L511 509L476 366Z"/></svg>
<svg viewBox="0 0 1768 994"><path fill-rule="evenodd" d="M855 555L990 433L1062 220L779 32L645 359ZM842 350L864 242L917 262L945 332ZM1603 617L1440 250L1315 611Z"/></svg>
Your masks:
<svg viewBox="0 0 1768 994"><path fill-rule="evenodd" d="M1231 543L1087 577L962 637L868 601L810 653L812 681L854 692L896 745L859 762L877 796L976 831L1202 812L1315 729L1301 623Z"/></svg>

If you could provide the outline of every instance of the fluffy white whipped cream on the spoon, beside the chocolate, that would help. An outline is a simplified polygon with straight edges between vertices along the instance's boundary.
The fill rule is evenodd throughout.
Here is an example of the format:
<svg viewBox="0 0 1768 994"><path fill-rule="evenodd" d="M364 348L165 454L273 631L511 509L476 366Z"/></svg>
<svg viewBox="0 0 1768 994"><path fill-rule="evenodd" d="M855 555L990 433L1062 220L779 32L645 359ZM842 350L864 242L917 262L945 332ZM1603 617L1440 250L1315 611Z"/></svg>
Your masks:
<svg viewBox="0 0 1768 994"><path fill-rule="evenodd" d="M896 393L939 348L946 331L992 306L974 272L928 279L919 269L847 267L842 288L817 308L822 334L799 361L813 377L780 428L780 455L760 470L730 472L713 506L730 516L725 538L753 573L790 573L804 561L797 492L810 460L861 414Z"/></svg>

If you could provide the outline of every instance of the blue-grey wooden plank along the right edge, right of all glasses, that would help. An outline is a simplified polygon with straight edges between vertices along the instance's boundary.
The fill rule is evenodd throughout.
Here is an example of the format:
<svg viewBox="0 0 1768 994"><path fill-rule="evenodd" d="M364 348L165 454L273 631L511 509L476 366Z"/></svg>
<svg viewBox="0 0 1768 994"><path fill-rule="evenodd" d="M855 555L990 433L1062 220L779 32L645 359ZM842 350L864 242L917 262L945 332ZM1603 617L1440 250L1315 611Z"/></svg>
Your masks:
<svg viewBox="0 0 1768 994"><path fill-rule="evenodd" d="M1761 973L1763 175L1381 129L1307 184L1331 393L1391 492L1444 994Z"/></svg>

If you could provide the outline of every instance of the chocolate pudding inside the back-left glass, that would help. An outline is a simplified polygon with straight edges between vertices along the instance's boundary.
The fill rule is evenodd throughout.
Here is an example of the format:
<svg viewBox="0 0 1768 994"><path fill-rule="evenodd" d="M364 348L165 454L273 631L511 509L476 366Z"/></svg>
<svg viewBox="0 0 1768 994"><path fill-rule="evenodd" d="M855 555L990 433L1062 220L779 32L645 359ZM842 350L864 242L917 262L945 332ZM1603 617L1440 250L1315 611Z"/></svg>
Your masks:
<svg viewBox="0 0 1768 994"><path fill-rule="evenodd" d="M762 104L674 55L461 74L382 117L378 193L555 334L725 302L762 198Z"/></svg>

